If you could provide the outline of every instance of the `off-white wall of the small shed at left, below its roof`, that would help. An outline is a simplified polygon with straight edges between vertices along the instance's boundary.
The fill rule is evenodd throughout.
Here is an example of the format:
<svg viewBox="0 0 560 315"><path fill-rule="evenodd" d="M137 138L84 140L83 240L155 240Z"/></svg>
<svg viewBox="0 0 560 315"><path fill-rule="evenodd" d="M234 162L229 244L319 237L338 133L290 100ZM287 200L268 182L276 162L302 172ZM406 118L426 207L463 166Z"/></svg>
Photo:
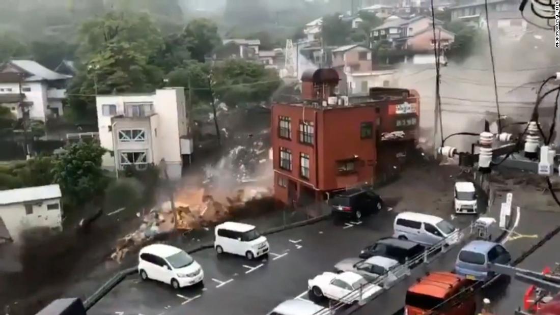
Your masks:
<svg viewBox="0 0 560 315"><path fill-rule="evenodd" d="M58 209L47 210L47 205L58 204ZM0 217L10 237L20 239L22 231L33 227L62 228L62 211L60 199L50 199L33 203L33 213L25 213L25 205L11 204L0 206Z"/></svg>

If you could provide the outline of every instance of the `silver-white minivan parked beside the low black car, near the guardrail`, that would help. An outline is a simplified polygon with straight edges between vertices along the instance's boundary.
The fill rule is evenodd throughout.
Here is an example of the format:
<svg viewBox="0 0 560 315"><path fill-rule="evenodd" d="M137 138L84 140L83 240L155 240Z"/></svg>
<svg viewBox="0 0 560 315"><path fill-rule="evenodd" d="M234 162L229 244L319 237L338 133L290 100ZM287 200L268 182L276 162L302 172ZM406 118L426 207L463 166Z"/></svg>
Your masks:
<svg viewBox="0 0 560 315"><path fill-rule="evenodd" d="M447 245L459 242L459 230L435 215L403 212L395 218L393 237L432 246L443 241Z"/></svg>

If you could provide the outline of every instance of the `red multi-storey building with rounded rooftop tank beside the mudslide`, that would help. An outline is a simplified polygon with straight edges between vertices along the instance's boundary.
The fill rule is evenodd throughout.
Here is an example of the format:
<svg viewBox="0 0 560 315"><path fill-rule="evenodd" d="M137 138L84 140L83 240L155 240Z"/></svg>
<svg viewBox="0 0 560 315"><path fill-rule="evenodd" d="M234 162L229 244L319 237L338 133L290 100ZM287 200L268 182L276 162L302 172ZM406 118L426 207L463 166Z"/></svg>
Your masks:
<svg viewBox="0 0 560 315"><path fill-rule="evenodd" d="M337 97L338 81L333 69L305 72L303 101L272 108L274 195L283 203L383 180L416 147L416 91L372 88L367 97Z"/></svg>

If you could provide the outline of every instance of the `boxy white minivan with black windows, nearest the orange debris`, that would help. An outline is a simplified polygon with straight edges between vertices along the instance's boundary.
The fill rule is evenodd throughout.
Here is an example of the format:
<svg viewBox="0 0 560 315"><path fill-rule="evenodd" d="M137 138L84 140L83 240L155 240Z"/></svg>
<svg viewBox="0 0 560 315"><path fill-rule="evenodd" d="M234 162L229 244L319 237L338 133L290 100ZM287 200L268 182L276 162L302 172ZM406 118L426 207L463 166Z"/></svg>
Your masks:
<svg viewBox="0 0 560 315"><path fill-rule="evenodd" d="M224 222L216 225L217 253L232 253L253 259L266 255L269 250L267 238L260 235L253 225Z"/></svg>

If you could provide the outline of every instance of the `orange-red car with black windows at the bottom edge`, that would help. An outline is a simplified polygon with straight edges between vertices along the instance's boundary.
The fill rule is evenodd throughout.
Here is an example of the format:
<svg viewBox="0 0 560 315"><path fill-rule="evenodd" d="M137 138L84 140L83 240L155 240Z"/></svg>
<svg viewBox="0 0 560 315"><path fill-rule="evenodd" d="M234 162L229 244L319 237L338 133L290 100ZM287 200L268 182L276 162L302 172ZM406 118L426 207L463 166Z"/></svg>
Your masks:
<svg viewBox="0 0 560 315"><path fill-rule="evenodd" d="M432 310L437 309L437 314L441 315L474 315L477 310L475 294L460 294L468 292L465 289L470 285L470 281L460 275L432 272L408 288L405 314L433 314ZM446 304L451 307L438 308L449 299L455 299L454 303Z"/></svg>

